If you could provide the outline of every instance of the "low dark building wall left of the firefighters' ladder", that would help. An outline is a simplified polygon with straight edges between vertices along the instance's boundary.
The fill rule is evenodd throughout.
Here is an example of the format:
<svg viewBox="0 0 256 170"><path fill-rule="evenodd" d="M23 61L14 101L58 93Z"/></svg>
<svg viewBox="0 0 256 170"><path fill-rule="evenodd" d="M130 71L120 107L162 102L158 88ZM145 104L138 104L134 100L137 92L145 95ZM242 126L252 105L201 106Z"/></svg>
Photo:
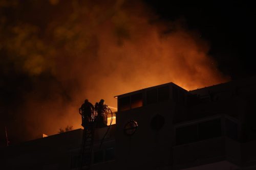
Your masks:
<svg viewBox="0 0 256 170"><path fill-rule="evenodd" d="M81 135L82 131L78 129L10 146L4 151L6 167L7 169L70 167L69 150L80 147Z"/></svg>

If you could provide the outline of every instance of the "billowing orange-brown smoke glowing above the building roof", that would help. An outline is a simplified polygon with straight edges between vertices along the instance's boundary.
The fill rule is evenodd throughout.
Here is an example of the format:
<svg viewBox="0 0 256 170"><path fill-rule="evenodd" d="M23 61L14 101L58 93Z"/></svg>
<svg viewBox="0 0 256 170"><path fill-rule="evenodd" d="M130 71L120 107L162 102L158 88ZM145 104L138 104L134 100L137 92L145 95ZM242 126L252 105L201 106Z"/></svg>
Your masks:
<svg viewBox="0 0 256 170"><path fill-rule="evenodd" d="M207 41L142 2L0 0L0 8L1 121L26 138L80 128L84 99L116 107L113 96L149 86L227 81Z"/></svg>

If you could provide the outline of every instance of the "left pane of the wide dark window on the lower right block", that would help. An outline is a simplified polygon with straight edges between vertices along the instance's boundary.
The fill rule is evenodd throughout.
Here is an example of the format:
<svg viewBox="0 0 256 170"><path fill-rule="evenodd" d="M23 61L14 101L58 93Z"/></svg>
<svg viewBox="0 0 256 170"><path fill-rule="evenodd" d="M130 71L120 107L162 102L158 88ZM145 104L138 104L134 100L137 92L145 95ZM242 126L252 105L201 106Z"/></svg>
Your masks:
<svg viewBox="0 0 256 170"><path fill-rule="evenodd" d="M176 144L185 144L197 141L197 125L190 125L176 129Z"/></svg>

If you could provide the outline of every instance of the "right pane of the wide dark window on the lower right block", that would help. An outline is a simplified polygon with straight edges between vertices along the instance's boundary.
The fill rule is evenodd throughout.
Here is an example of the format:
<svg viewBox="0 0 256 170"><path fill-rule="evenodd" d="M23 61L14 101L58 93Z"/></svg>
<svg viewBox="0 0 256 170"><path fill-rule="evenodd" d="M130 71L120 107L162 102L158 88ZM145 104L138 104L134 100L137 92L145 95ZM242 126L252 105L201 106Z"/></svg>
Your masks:
<svg viewBox="0 0 256 170"><path fill-rule="evenodd" d="M199 140L221 136L221 119L199 123L198 135Z"/></svg>

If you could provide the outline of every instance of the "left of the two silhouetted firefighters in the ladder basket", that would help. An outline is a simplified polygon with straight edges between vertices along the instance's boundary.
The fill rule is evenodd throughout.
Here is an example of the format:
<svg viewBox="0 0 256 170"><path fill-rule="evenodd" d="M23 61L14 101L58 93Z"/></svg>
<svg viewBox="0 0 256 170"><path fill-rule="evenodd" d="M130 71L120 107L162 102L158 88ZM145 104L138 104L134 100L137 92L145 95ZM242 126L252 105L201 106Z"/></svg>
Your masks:
<svg viewBox="0 0 256 170"><path fill-rule="evenodd" d="M92 120L92 112L94 111L94 106L88 101L84 100L84 103L79 108L79 113L82 115L82 126L86 126Z"/></svg>

